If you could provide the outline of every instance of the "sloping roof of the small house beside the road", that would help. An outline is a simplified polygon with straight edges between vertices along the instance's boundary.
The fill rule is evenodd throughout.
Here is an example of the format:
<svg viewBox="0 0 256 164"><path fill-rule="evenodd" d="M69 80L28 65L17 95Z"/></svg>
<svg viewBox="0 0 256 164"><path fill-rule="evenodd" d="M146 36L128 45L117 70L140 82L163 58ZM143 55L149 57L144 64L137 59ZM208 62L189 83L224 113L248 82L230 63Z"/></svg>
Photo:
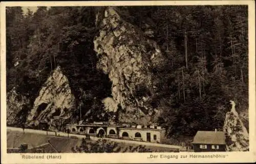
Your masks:
<svg viewBox="0 0 256 164"><path fill-rule="evenodd" d="M223 131L198 131L192 144L225 145L225 133Z"/></svg>

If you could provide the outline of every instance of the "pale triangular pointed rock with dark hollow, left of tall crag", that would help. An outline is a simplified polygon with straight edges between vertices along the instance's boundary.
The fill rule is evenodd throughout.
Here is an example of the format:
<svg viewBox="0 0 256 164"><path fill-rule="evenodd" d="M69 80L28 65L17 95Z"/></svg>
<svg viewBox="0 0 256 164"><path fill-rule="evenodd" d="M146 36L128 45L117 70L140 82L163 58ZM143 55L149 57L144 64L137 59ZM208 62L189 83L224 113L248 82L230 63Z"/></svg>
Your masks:
<svg viewBox="0 0 256 164"><path fill-rule="evenodd" d="M38 125L40 120L52 116L70 118L75 104L75 97L71 93L68 78L57 67L41 88L34 106L27 118L29 125Z"/></svg>

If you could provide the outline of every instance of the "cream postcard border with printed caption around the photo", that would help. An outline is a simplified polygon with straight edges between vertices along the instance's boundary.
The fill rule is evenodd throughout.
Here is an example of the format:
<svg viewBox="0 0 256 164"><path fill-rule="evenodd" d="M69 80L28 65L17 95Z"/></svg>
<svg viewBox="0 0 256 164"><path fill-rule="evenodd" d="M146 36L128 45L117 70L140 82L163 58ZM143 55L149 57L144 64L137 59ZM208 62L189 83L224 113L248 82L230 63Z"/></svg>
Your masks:
<svg viewBox="0 0 256 164"><path fill-rule="evenodd" d="M249 152L221 153L61 153L61 159L38 160L22 159L22 154L7 154L6 139L6 38L5 38L5 7L6 6L149 6L149 5L248 5L249 16ZM162 163L162 162L252 162L255 154L255 3L254 1L108 1L108 2L2 2L1 3L1 162L2 163ZM148 155L212 155L224 154L225 158L178 158L148 159ZM26 154L27 155L27 154ZM45 157L48 154L44 154Z"/></svg>

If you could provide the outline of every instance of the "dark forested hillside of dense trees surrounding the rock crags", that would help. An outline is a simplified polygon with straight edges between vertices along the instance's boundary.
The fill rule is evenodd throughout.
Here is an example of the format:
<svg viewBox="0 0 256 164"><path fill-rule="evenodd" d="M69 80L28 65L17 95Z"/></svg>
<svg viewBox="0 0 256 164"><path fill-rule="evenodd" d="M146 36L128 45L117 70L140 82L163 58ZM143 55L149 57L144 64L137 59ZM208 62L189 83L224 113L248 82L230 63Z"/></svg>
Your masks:
<svg viewBox="0 0 256 164"><path fill-rule="evenodd" d="M20 7L7 8L7 92L15 87L30 100L25 113L60 66L82 108L82 119L88 119L89 109L94 120L106 119L101 115L102 100L111 97L112 83L97 69L94 50L97 21L104 9L38 7L35 13L24 13ZM167 128L168 136L222 129L229 100L248 121L247 6L117 7L116 11L160 47L164 62L147 70L158 79L156 94L148 95L150 104L161 111L157 123ZM78 107L73 116L79 116Z"/></svg>

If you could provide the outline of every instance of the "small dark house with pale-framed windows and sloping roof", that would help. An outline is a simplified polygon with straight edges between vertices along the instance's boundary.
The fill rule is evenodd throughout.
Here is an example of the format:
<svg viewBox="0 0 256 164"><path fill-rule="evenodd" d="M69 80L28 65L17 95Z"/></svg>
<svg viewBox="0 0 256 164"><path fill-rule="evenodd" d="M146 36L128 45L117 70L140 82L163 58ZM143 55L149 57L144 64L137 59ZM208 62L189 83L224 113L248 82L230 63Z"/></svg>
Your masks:
<svg viewBox="0 0 256 164"><path fill-rule="evenodd" d="M194 137L195 152L226 151L225 133L223 131L198 131Z"/></svg>

